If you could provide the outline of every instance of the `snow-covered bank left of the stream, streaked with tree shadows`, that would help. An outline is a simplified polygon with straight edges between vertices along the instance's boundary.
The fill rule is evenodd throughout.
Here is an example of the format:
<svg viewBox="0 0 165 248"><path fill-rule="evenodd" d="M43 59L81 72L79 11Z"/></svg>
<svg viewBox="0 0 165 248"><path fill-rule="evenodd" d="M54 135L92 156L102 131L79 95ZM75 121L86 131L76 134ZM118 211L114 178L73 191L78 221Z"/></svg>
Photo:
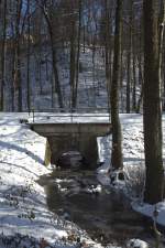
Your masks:
<svg viewBox="0 0 165 248"><path fill-rule="evenodd" d="M87 247L101 247L47 209L44 188L37 183L41 175L51 173L51 166L44 166L46 139L20 123L28 118L26 114L0 114L0 247L6 247L2 240L10 248L31 247L32 241L41 247L45 239L53 247L72 248L77 247L76 237Z"/></svg>

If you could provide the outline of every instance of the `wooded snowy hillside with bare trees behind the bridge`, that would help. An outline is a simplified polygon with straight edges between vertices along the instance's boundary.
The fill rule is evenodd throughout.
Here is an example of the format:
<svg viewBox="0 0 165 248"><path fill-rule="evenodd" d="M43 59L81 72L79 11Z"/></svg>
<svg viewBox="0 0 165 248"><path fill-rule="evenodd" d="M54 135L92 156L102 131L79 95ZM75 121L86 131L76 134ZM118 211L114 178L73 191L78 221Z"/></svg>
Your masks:
<svg viewBox="0 0 165 248"><path fill-rule="evenodd" d="M162 22L160 4L156 11ZM50 109L109 106L116 1L2 0L0 11L2 111L38 109L42 101ZM121 29L120 111L140 112L144 82L142 1L123 1ZM82 97L86 103L81 103Z"/></svg>

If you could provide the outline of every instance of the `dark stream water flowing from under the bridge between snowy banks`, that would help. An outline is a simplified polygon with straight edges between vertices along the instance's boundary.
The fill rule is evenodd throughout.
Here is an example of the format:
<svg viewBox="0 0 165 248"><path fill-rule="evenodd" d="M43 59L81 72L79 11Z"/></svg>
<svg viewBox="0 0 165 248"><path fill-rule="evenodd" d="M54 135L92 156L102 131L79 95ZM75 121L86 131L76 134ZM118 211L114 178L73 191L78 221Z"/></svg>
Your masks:
<svg viewBox="0 0 165 248"><path fill-rule="evenodd" d="M131 209L122 193L102 186L94 171L55 171L41 177L40 184L52 212L76 223L102 245L125 247L131 238L154 241L146 219Z"/></svg>

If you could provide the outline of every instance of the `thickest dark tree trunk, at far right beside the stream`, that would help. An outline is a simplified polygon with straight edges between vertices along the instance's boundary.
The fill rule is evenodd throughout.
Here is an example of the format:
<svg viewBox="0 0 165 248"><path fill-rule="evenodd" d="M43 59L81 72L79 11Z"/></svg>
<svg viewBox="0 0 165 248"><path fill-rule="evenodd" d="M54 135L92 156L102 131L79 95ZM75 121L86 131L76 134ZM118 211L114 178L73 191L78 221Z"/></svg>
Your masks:
<svg viewBox="0 0 165 248"><path fill-rule="evenodd" d="M155 0L144 0L144 151L146 181L144 201L163 200L162 112L158 29Z"/></svg>

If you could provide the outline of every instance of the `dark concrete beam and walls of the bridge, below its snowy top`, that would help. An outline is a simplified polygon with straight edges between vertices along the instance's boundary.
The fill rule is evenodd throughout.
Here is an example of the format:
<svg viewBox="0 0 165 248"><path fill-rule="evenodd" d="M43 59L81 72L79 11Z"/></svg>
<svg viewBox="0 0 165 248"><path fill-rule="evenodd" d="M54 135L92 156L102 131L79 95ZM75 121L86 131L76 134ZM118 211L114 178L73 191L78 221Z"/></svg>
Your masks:
<svg viewBox="0 0 165 248"><path fill-rule="evenodd" d="M31 128L47 138L52 163L67 151L79 151L90 166L98 161L97 137L110 133L110 123L31 123Z"/></svg>

